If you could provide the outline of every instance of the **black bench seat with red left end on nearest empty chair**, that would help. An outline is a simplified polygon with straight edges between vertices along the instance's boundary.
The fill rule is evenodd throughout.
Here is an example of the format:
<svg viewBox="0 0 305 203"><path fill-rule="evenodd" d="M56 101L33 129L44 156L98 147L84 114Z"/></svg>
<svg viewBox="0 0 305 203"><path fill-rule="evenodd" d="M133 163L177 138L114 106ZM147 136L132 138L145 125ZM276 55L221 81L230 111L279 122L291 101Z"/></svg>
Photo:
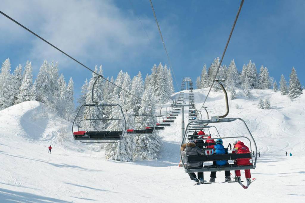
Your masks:
<svg viewBox="0 0 305 203"><path fill-rule="evenodd" d="M120 140L122 131L76 131L75 140Z"/></svg>

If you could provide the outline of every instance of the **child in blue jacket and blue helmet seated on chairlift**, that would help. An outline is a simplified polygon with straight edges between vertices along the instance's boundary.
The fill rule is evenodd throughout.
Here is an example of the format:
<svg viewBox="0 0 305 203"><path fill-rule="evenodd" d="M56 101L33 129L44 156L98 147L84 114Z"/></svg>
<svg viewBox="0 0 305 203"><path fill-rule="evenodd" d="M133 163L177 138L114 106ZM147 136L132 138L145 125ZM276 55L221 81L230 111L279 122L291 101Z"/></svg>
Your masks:
<svg viewBox="0 0 305 203"><path fill-rule="evenodd" d="M216 145L214 145L214 152L213 154L227 154L228 153L228 149L224 148L224 146L222 145L222 139L217 139L216 140ZM218 166L224 166L227 165L228 161L226 160L221 160L221 161L214 161L213 165L218 165ZM231 172L229 170L225 170L224 171L225 174L225 181L231 181ZM216 171L211 171L211 175L210 175L210 182L215 182L215 178L216 178Z"/></svg>

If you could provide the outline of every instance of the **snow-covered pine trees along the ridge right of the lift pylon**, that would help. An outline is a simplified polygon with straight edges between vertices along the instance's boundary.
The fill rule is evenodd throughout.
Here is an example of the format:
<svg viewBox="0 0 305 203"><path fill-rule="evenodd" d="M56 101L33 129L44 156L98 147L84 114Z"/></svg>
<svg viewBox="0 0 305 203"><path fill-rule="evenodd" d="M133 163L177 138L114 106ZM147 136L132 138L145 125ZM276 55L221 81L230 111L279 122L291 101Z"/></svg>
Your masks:
<svg viewBox="0 0 305 203"><path fill-rule="evenodd" d="M211 85L219 63L220 59L217 57L208 69L206 64L204 64L201 75L196 79L196 87L198 89L207 88ZM246 98L251 97L250 89L273 89L274 91L281 91L282 95L289 95L291 99L299 97L303 89L294 67L292 67L291 74L289 75L289 83L287 84L282 74L278 88L276 79L269 76L268 68L261 65L258 72L255 63L251 60L248 64L243 65L241 72L236 67L235 61L231 60L228 67L226 65L220 67L216 79L221 80L224 87L231 91L231 100L236 98L235 88L241 88ZM215 83L213 89L214 91L219 91L219 84Z"/></svg>

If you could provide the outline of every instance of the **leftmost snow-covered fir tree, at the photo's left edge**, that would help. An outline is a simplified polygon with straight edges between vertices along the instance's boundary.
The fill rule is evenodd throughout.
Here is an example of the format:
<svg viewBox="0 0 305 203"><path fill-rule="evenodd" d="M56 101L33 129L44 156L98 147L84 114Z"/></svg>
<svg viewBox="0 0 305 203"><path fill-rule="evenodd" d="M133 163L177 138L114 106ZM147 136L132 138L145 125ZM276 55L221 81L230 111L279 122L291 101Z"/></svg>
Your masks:
<svg viewBox="0 0 305 203"><path fill-rule="evenodd" d="M0 110L10 107L14 104L14 88L13 88L13 75L10 74L11 62L7 58L1 67L0 73Z"/></svg>

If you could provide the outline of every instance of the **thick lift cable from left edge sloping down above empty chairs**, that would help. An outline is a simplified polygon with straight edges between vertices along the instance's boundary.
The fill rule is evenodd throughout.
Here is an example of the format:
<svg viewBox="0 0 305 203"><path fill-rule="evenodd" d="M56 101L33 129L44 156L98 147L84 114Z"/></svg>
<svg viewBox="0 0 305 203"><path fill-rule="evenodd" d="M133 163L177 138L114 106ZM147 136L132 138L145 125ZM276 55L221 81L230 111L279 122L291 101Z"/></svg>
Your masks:
<svg viewBox="0 0 305 203"><path fill-rule="evenodd" d="M44 41L45 43L49 44L50 46L52 46L53 48L55 48L56 50L60 51L61 53L65 54L67 57L69 57L70 59L74 60L75 62L77 62L78 64L80 64L81 66L85 67L86 69L88 69L89 71L91 71L92 73L96 74L98 77L101 77L103 78L105 81L113 84L114 86L120 88L121 90L127 92L128 94L134 96L135 98L138 98L139 100L141 101L144 101L150 105L154 105L154 106L157 106L157 107L162 107L162 106L158 106L158 105L155 105L155 104L152 104L151 102L149 101L146 101L142 98L139 98L137 97L136 95L132 94L131 92L121 88L120 86L118 86L117 84L114 84L113 82L107 80L105 77L103 77L102 75L96 73L95 71L93 71L91 68L87 67L86 65L82 64L81 62L79 62L78 60L76 60L75 58L71 57L69 54L65 53L64 51L60 50L59 48L57 48L56 46L54 46L53 44L49 43L47 40L43 39L41 36L39 36L38 34L34 33L32 30L28 29L27 27L23 26L22 24L20 24L19 22L17 22L16 20L14 20L13 18L9 17L8 15L6 15L5 13L3 13L2 11L0 11L0 13L2 15L4 15L5 17L7 17L8 19L10 19L11 21L15 22L17 25L21 26L22 28L26 29L27 31L29 31L30 33L32 33L33 35L35 35L36 37L38 37L39 39L41 39L42 41Z"/></svg>

